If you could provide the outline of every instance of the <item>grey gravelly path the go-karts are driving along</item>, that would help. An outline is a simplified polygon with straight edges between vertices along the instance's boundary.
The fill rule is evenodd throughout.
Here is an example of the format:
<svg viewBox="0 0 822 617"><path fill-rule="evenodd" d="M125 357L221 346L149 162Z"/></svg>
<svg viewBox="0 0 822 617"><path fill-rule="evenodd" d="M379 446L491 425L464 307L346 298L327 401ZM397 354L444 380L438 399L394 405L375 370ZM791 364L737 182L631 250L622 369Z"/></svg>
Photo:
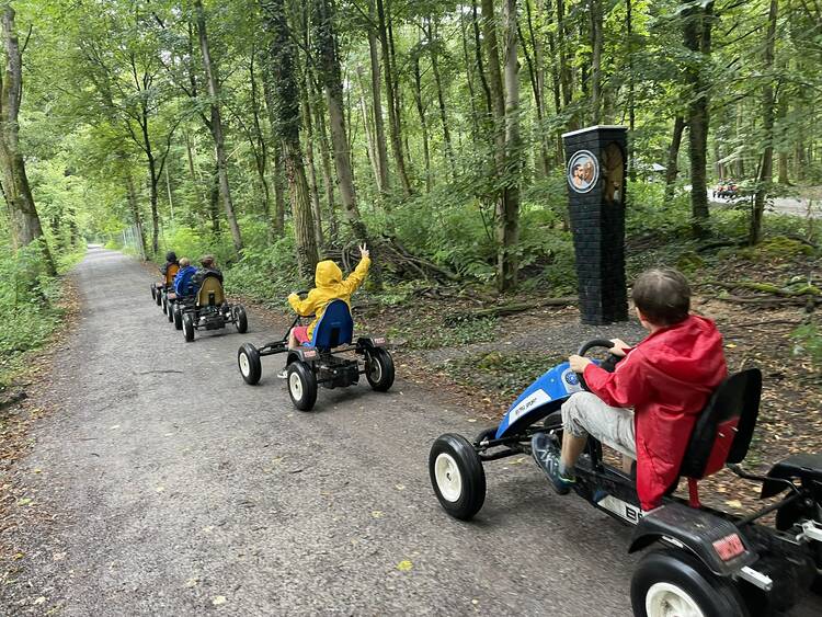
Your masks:
<svg viewBox="0 0 822 617"><path fill-rule="evenodd" d="M77 277L57 409L21 462L57 517L18 529L5 614L630 613L629 529L552 494L529 460L490 470L473 523L442 512L427 450L478 431L461 411L399 380L297 412L273 361L260 386L240 379L240 343L275 336L253 315L246 335L186 344L133 261L91 250Z"/></svg>

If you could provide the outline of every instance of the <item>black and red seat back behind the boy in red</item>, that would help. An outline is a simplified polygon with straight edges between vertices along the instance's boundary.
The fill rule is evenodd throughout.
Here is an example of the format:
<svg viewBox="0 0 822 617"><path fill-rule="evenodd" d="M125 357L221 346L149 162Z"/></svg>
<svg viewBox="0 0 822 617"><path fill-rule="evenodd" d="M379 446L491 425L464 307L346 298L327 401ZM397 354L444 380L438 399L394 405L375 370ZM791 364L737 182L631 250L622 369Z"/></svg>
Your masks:
<svg viewBox="0 0 822 617"><path fill-rule="evenodd" d="M699 507L697 480L726 462L745 458L760 413L762 373L749 368L729 376L713 391L694 425L680 476L688 479L690 505Z"/></svg>

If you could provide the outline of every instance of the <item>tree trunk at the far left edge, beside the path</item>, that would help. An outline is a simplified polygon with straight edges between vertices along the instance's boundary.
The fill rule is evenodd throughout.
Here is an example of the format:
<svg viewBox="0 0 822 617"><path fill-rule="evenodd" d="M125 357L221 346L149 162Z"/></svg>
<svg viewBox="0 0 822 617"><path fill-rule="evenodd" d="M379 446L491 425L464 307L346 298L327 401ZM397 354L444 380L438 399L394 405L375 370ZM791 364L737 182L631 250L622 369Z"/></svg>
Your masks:
<svg viewBox="0 0 822 617"><path fill-rule="evenodd" d="M57 268L43 233L20 151L18 115L23 98L23 58L14 25L14 9L7 3L1 10L5 75L0 80L0 173L9 207L12 248L16 251L37 242L46 273L54 276Z"/></svg>

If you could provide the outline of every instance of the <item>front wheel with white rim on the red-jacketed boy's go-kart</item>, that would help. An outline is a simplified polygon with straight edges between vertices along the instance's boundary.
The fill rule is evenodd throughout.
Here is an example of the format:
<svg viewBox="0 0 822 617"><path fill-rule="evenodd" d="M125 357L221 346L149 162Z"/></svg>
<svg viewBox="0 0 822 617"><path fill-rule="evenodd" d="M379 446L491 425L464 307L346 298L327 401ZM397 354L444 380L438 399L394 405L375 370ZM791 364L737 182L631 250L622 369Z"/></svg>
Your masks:
<svg viewBox="0 0 822 617"><path fill-rule="evenodd" d="M431 446L429 477L443 510L469 521L486 502L486 470L477 450L461 435L446 433Z"/></svg>

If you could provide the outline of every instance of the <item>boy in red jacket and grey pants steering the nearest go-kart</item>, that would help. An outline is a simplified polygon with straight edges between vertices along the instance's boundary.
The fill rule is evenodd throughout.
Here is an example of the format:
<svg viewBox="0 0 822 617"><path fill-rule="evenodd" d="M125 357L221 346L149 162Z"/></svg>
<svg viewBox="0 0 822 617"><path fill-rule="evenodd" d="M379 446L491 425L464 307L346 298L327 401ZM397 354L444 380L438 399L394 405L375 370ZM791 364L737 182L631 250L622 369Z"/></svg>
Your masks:
<svg viewBox="0 0 822 617"><path fill-rule="evenodd" d="M637 460L637 493L649 511L676 480L699 412L728 369L713 322L688 312L690 288L680 272L643 272L631 297L650 334L632 349L614 340L610 353L625 356L614 373L572 355L571 368L591 391L562 404L561 453L545 433L534 435L532 452L555 490L566 494L592 435Z"/></svg>

